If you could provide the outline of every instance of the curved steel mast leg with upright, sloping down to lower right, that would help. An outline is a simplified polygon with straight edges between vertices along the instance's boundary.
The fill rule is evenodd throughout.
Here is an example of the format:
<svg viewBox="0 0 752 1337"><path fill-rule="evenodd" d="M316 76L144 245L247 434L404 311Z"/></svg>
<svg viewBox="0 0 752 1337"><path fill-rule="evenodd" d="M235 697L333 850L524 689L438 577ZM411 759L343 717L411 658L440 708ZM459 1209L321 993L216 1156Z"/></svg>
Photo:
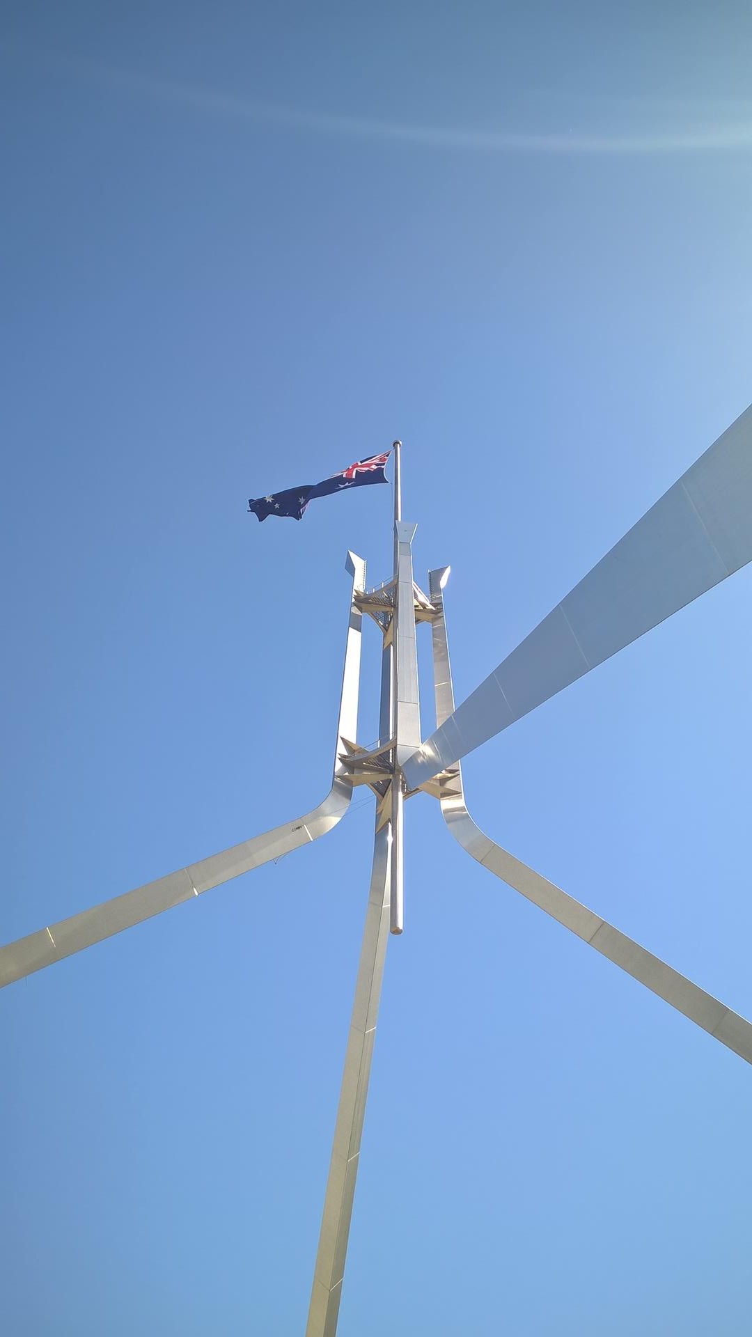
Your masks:
<svg viewBox="0 0 752 1337"><path fill-rule="evenodd" d="M431 572L431 602L439 612L434 620L434 683L436 697L436 722L442 723L454 709L452 675L443 606L443 584L448 568ZM442 781L442 813L456 841L472 854L483 868L495 873L534 905L546 910L551 919L577 933L585 943L594 947L602 956L620 965L622 971L640 980L658 997L665 999L678 1012L708 1031L716 1040L740 1054L752 1063L752 1024L724 1003L698 988L652 952L607 924L593 910L575 901L561 888L554 886L539 873L522 864L512 854L486 836L470 816L463 793L462 767L459 763L448 770Z"/></svg>

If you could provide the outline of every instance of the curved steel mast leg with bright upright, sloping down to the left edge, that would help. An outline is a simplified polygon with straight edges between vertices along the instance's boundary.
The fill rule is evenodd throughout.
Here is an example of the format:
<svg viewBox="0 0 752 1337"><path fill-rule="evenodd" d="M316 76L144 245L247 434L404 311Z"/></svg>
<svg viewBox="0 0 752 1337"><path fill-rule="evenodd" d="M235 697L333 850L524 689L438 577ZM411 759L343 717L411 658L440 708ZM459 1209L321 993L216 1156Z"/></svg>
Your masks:
<svg viewBox="0 0 752 1337"><path fill-rule="evenodd" d="M274 830L254 836L252 840L233 845L219 854L190 864L187 868L169 873L154 882L146 882L132 892L116 896L111 901L82 910L71 919L51 924L28 937L21 937L16 943L9 943L0 948L0 988L12 984L15 980L40 971L45 965L52 965L74 952L80 952L84 947L100 943L122 929L132 928L153 915L189 901L211 886L248 873L273 858L280 858L301 845L308 845L326 832L332 830L344 817L352 794L352 783L348 773L339 759L341 750L340 739L355 738L357 729L357 695L360 682L360 643L363 614L356 607L356 592L365 588L365 563L355 554L348 554L347 568L352 576L352 595L349 608L349 623L345 646L345 663L343 674L343 690L340 697L340 714L337 722L337 746L335 749L335 770L332 787L326 798L297 821Z"/></svg>

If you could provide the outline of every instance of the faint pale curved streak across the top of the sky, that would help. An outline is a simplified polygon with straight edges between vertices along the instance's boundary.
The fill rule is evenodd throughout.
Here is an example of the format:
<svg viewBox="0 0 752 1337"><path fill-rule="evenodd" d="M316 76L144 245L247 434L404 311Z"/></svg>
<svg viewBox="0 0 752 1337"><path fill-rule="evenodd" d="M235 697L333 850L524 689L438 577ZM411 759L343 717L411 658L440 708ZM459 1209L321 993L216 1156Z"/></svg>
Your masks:
<svg viewBox="0 0 752 1337"><path fill-rule="evenodd" d="M76 71L111 86L130 90L131 92L146 94L163 102L193 107L198 111L227 116L234 120L246 120L253 124L286 126L308 134L340 135L381 142L393 140L404 144L423 144L435 148L470 150L475 152L638 155L717 152L752 147L752 107L736 107L733 119L723 120L717 119L717 108L707 108L704 114L698 112L697 108L692 108L692 124L689 127L640 132L591 134L581 132L574 127L557 132L529 132L504 128L460 130L383 120L372 116L333 115L278 103L256 102L249 98L215 92L197 84L138 75L100 62L63 55L62 52L45 51L43 59L52 62L58 67Z"/></svg>

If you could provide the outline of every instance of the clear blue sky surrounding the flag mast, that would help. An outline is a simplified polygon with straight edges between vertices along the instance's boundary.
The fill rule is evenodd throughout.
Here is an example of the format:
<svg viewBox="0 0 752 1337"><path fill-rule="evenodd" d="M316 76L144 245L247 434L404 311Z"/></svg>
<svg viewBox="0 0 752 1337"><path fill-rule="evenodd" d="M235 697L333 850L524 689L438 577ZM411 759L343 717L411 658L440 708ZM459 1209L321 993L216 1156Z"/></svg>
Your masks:
<svg viewBox="0 0 752 1337"><path fill-rule="evenodd" d="M4 7L0 939L324 797L404 441L458 701L752 400L743 0ZM475 753L490 834L752 1016L745 570ZM424 733L432 729L420 630ZM360 738L376 733L364 634ZM302 1333L335 833L0 996L8 1337ZM747 1337L751 1071L407 808L341 1337Z"/></svg>

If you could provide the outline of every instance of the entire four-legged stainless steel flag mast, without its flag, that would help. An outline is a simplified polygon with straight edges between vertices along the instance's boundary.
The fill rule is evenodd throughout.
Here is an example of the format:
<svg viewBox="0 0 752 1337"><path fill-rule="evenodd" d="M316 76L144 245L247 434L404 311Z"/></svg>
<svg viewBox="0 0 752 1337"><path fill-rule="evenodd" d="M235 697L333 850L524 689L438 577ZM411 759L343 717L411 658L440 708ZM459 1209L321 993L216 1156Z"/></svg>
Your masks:
<svg viewBox="0 0 752 1337"><path fill-rule="evenodd" d="M355 786L375 792L373 868L306 1337L335 1337L337 1329L387 943L389 929L403 931L407 796L423 789L438 798L450 832L478 862L752 1063L749 1021L479 830L466 806L459 765L515 719L752 562L752 406L456 709L443 606L448 568L431 572L430 598L413 582L416 525L401 517L400 441L393 453L391 579L365 590L365 563L348 555L352 595L326 798L296 822L0 947L3 987L317 840L344 816ZM371 750L356 742L364 612L383 634L380 737ZM432 623L438 726L424 743L415 632L421 620Z"/></svg>

